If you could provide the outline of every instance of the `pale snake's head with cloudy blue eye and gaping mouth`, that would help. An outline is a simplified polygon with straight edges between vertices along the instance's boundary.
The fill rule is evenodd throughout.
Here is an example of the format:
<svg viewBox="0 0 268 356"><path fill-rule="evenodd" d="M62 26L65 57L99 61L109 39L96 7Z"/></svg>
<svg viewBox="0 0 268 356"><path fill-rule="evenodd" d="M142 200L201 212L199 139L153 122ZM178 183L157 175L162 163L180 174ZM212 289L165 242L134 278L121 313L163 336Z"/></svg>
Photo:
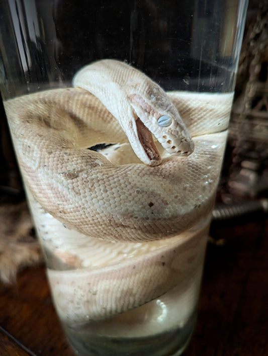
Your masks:
<svg viewBox="0 0 268 356"><path fill-rule="evenodd" d="M180 114L159 85L150 81L142 95L131 94L129 99L138 117L136 125L141 144L152 161L155 157L155 162L149 165L160 163L159 152L152 138L149 139L150 133L171 155L188 156L194 151L194 142Z"/></svg>

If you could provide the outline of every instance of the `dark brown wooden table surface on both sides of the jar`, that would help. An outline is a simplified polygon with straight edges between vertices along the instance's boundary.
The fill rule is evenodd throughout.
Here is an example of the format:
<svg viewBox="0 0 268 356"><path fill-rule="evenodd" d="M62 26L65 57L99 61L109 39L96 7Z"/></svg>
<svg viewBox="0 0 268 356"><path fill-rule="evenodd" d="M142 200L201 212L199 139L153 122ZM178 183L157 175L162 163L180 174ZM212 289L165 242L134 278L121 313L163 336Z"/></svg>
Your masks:
<svg viewBox="0 0 268 356"><path fill-rule="evenodd" d="M268 355L268 220L216 226L199 317L185 356ZM44 266L0 286L2 356L73 356L56 317ZM148 355L149 356L149 355Z"/></svg>

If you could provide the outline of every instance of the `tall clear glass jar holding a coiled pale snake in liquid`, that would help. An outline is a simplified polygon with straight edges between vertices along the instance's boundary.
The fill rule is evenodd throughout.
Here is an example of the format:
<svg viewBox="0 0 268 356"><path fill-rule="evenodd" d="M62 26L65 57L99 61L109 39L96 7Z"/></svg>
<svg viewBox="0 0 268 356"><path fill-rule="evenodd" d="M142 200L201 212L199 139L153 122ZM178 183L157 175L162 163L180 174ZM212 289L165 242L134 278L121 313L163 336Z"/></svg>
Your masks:
<svg viewBox="0 0 268 356"><path fill-rule="evenodd" d="M0 2L1 94L79 355L179 355L191 337L246 6Z"/></svg>

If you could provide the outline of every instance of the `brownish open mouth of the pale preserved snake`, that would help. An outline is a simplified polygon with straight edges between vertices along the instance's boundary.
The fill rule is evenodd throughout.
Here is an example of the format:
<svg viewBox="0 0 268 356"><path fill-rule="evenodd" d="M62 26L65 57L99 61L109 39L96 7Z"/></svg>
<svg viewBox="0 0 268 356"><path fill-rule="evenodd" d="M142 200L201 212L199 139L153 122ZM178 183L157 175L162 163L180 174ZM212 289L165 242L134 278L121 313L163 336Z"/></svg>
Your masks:
<svg viewBox="0 0 268 356"><path fill-rule="evenodd" d="M137 118L136 120L137 132L139 141L147 155L150 159L150 165L158 165L161 163L161 156L153 142L152 134L143 124L143 122Z"/></svg>

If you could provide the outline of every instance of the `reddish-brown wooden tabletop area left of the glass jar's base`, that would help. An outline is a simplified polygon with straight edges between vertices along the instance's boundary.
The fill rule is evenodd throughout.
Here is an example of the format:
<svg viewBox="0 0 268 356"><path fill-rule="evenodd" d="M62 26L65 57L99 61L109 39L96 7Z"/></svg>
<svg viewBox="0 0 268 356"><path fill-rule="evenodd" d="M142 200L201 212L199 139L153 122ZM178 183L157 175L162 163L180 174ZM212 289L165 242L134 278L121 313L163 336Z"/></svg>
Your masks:
<svg viewBox="0 0 268 356"><path fill-rule="evenodd" d="M34 354L73 356L56 317L43 266L21 273L16 286L1 287L0 310L0 325Z"/></svg>

